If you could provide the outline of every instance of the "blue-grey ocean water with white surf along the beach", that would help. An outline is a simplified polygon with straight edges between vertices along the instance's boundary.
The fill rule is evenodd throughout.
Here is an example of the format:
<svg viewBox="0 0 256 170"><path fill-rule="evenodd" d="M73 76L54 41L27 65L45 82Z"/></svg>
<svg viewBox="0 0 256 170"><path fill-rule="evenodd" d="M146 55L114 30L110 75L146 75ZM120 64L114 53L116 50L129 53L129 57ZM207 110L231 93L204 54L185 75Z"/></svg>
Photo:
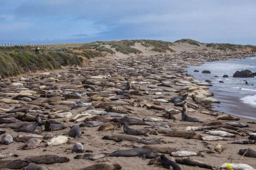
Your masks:
<svg viewBox="0 0 256 170"><path fill-rule="evenodd" d="M215 110L256 120L256 77L233 77L236 71L245 69L256 72L256 57L205 62L200 66L190 66L187 71L197 79L212 81L210 91L214 93L214 98L221 102L214 104ZM194 72L194 70L199 72ZM202 73L204 70L209 70L211 73L204 74ZM223 78L223 75L228 75L228 77ZM248 85L244 80L248 82ZM219 83L219 81L224 81L224 83Z"/></svg>

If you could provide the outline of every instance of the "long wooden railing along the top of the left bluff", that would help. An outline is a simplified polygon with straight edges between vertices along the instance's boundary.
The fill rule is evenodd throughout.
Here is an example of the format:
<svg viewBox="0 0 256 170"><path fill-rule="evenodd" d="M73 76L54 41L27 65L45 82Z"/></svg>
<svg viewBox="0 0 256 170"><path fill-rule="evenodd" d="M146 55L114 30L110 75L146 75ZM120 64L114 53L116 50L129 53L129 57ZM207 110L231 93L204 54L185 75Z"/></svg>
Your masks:
<svg viewBox="0 0 256 170"><path fill-rule="evenodd" d="M12 53L19 53L19 54L23 54L24 51L29 51L30 53L50 53L53 51L57 51L57 52L62 52L62 53L70 53L69 49L0 49L0 51L10 51Z"/></svg>

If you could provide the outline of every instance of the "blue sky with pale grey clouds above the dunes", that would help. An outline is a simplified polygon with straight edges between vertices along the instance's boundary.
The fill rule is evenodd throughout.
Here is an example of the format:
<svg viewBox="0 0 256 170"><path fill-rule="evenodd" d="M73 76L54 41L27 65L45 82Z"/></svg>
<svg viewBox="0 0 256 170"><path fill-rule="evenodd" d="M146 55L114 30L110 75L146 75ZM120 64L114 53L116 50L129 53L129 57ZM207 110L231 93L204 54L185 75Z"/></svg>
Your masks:
<svg viewBox="0 0 256 170"><path fill-rule="evenodd" d="M2 43L190 38L256 45L256 0L0 0Z"/></svg>

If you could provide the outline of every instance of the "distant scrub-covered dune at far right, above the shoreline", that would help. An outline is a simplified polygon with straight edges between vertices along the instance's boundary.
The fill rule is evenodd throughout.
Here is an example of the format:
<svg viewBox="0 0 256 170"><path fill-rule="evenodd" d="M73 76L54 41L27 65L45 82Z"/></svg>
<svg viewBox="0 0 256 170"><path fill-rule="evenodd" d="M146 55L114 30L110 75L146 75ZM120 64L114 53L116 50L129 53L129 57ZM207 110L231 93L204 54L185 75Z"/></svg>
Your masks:
<svg viewBox="0 0 256 170"><path fill-rule="evenodd" d="M256 48L255 45L238 45L238 44L230 44L230 43L207 43L207 47L212 47L214 49L219 50L231 50L231 51L237 51L237 50L243 50L245 48Z"/></svg>

